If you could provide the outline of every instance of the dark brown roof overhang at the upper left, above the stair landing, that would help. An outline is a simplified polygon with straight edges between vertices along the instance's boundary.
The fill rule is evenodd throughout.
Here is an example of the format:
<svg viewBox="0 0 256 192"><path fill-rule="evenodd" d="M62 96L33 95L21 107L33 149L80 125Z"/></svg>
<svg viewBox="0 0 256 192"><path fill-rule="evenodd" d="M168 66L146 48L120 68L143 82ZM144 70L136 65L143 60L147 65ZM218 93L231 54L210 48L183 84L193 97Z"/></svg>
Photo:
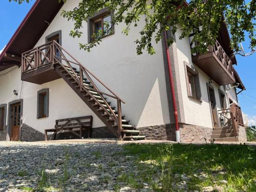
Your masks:
<svg viewBox="0 0 256 192"><path fill-rule="evenodd" d="M0 71L19 65L22 53L33 49L63 3L36 0L0 55Z"/></svg>

